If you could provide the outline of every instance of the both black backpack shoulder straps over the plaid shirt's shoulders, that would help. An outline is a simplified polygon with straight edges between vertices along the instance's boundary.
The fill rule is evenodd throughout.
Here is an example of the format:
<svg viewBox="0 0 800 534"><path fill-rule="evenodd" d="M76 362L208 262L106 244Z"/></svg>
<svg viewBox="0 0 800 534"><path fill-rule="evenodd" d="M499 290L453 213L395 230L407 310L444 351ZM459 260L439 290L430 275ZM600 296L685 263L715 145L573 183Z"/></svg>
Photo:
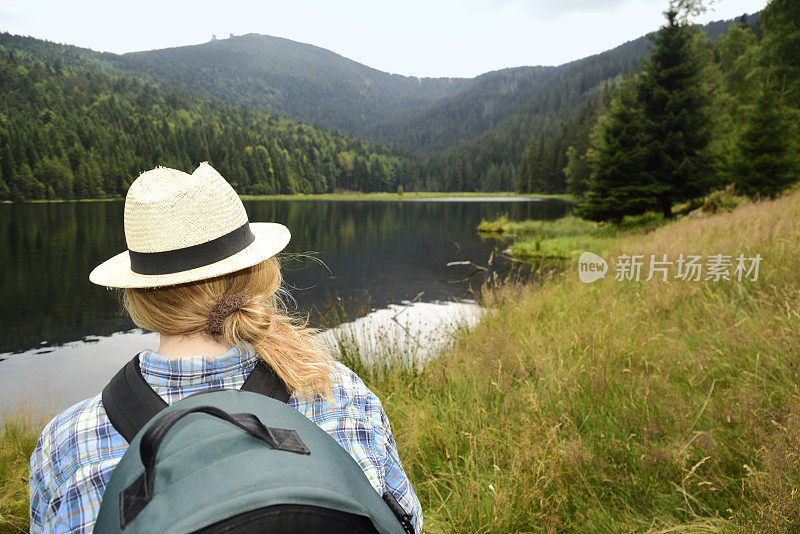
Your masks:
<svg viewBox="0 0 800 534"><path fill-rule="evenodd" d="M283 403L289 400L286 384L263 360L258 361L241 390L260 393ZM108 419L128 443L150 419L168 406L142 376L138 354L103 388L102 398Z"/></svg>

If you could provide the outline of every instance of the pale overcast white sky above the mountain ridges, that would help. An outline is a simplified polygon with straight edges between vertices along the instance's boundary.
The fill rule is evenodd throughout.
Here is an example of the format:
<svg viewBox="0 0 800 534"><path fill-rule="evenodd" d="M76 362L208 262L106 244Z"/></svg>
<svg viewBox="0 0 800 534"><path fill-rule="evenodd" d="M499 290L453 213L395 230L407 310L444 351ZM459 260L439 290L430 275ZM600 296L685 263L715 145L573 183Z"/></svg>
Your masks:
<svg viewBox="0 0 800 534"><path fill-rule="evenodd" d="M767 0L718 0L693 20ZM560 65L658 29L667 0L0 0L0 31L106 52L261 33L327 48L385 72L472 77Z"/></svg>

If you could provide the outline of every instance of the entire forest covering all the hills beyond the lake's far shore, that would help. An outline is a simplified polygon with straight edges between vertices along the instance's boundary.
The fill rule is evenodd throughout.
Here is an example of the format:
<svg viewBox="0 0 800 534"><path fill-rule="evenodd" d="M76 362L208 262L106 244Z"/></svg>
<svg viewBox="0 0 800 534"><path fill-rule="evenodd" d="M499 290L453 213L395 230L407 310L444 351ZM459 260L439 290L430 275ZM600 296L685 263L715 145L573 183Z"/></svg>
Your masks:
<svg viewBox="0 0 800 534"><path fill-rule="evenodd" d="M689 25L718 80L726 71L714 43L731 24ZM756 41L758 24L747 30ZM467 80L390 75L258 35L119 56L0 34L0 199L118 196L156 164L191 170L203 160L242 193L580 196L598 119L647 65L652 39ZM734 104L714 101L735 116ZM718 154L729 145L711 142Z"/></svg>

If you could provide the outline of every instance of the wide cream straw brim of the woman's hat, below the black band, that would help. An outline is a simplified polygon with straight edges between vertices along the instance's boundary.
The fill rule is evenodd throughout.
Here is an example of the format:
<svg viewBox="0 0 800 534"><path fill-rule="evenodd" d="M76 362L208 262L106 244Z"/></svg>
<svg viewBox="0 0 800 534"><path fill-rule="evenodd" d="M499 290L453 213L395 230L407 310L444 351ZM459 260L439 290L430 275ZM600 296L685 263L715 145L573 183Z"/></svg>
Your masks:
<svg viewBox="0 0 800 534"><path fill-rule="evenodd" d="M89 281L105 287L163 287L214 278L257 265L289 244L291 233L279 223L250 223L255 240L233 256L188 271L169 274L138 274L131 270L128 251L117 254L94 268Z"/></svg>

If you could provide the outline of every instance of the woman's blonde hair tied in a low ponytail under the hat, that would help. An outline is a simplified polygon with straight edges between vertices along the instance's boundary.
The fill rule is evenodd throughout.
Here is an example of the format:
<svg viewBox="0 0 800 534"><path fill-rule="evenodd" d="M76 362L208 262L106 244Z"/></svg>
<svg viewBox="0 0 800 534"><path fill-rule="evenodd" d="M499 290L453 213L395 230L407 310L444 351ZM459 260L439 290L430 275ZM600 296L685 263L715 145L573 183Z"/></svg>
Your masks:
<svg viewBox="0 0 800 534"><path fill-rule="evenodd" d="M128 288L124 305L134 323L166 335L203 333L231 346L249 343L289 390L330 397L333 360L311 336L317 329L289 315L279 298L281 271L273 257L230 274L176 286ZM209 328L209 315L225 296L244 304Z"/></svg>

